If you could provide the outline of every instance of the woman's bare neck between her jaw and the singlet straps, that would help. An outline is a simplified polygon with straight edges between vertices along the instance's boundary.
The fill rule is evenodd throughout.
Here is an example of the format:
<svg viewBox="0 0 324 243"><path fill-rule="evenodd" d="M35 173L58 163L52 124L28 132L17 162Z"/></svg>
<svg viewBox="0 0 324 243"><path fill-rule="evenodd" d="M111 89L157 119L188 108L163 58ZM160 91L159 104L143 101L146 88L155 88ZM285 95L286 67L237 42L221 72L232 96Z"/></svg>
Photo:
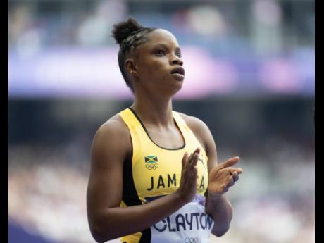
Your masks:
<svg viewBox="0 0 324 243"><path fill-rule="evenodd" d="M173 125L172 99L150 99L141 96L139 99L135 95L135 100L130 106L145 125L156 125L158 127L168 127Z"/></svg>

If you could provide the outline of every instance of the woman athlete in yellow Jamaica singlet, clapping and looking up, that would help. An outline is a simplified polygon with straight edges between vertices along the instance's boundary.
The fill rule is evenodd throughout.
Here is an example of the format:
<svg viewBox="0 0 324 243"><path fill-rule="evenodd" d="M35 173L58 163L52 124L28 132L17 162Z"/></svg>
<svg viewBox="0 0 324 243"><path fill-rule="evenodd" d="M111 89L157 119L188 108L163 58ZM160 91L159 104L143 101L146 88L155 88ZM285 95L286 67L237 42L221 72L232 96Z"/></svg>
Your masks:
<svg viewBox="0 0 324 243"><path fill-rule="evenodd" d="M242 173L239 157L217 162L210 130L173 111L185 69L177 39L133 19L114 25L118 63L134 94L130 108L99 127L87 189L96 242L208 242L228 231L225 192Z"/></svg>

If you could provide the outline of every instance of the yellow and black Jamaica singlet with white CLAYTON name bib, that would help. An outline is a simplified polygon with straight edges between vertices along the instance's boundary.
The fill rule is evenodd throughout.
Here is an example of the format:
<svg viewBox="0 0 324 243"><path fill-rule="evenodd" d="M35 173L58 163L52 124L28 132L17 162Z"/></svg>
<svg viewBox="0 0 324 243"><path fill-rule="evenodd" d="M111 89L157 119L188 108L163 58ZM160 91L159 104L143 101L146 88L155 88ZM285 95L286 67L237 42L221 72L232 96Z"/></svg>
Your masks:
<svg viewBox="0 0 324 243"><path fill-rule="evenodd" d="M132 110L119 113L130 130L132 159L123 168L122 207L146 204L177 190L180 185L182 157L200 148L197 163L197 194L193 201L178 211L151 225L147 230L122 237L127 243L207 243L213 228L213 219L205 212L204 193L208 187L207 156L194 133L179 113L173 118L179 127L184 144L177 149L158 146L149 137L144 124ZM143 216L145 217L145 216Z"/></svg>

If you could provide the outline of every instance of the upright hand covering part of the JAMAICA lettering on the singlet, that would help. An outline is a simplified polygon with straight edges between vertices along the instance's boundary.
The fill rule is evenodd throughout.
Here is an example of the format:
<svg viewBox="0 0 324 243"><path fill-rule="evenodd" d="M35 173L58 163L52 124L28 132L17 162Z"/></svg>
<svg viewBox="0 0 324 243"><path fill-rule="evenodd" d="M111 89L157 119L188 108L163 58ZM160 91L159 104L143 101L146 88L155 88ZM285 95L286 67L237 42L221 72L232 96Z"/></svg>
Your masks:
<svg viewBox="0 0 324 243"><path fill-rule="evenodd" d="M197 192L197 161L200 149L197 148L193 154L188 157L186 152L182 158L182 170L180 186L176 193L180 195L180 199L184 203L188 203L194 199Z"/></svg>

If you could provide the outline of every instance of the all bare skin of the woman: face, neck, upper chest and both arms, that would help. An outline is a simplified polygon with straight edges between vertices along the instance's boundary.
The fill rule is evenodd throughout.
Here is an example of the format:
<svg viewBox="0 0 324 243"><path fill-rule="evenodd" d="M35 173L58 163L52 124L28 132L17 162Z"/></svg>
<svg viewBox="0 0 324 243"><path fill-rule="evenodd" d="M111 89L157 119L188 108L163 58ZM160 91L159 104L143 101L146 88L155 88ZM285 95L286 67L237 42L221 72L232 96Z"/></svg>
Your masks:
<svg viewBox="0 0 324 243"><path fill-rule="evenodd" d="M177 39L166 30L150 32L149 40L137 46L125 61L137 112L151 139L161 147L177 148L183 144L180 130L172 116L172 97L182 87L182 77L171 74L181 67ZM232 206L225 192L235 184L242 169L233 168L238 157L218 164L216 145L208 127L198 118L181 114L199 139L208 156L208 195L206 213L215 225L213 234L225 234L232 219ZM154 202L120 208L123 190L123 163L132 155L130 131L117 114L101 125L92 144L92 167L87 189L89 226L97 242L106 242L149 228L194 199L197 190L199 149L182 158L182 175L177 191ZM180 163L180 161L175 161Z"/></svg>

